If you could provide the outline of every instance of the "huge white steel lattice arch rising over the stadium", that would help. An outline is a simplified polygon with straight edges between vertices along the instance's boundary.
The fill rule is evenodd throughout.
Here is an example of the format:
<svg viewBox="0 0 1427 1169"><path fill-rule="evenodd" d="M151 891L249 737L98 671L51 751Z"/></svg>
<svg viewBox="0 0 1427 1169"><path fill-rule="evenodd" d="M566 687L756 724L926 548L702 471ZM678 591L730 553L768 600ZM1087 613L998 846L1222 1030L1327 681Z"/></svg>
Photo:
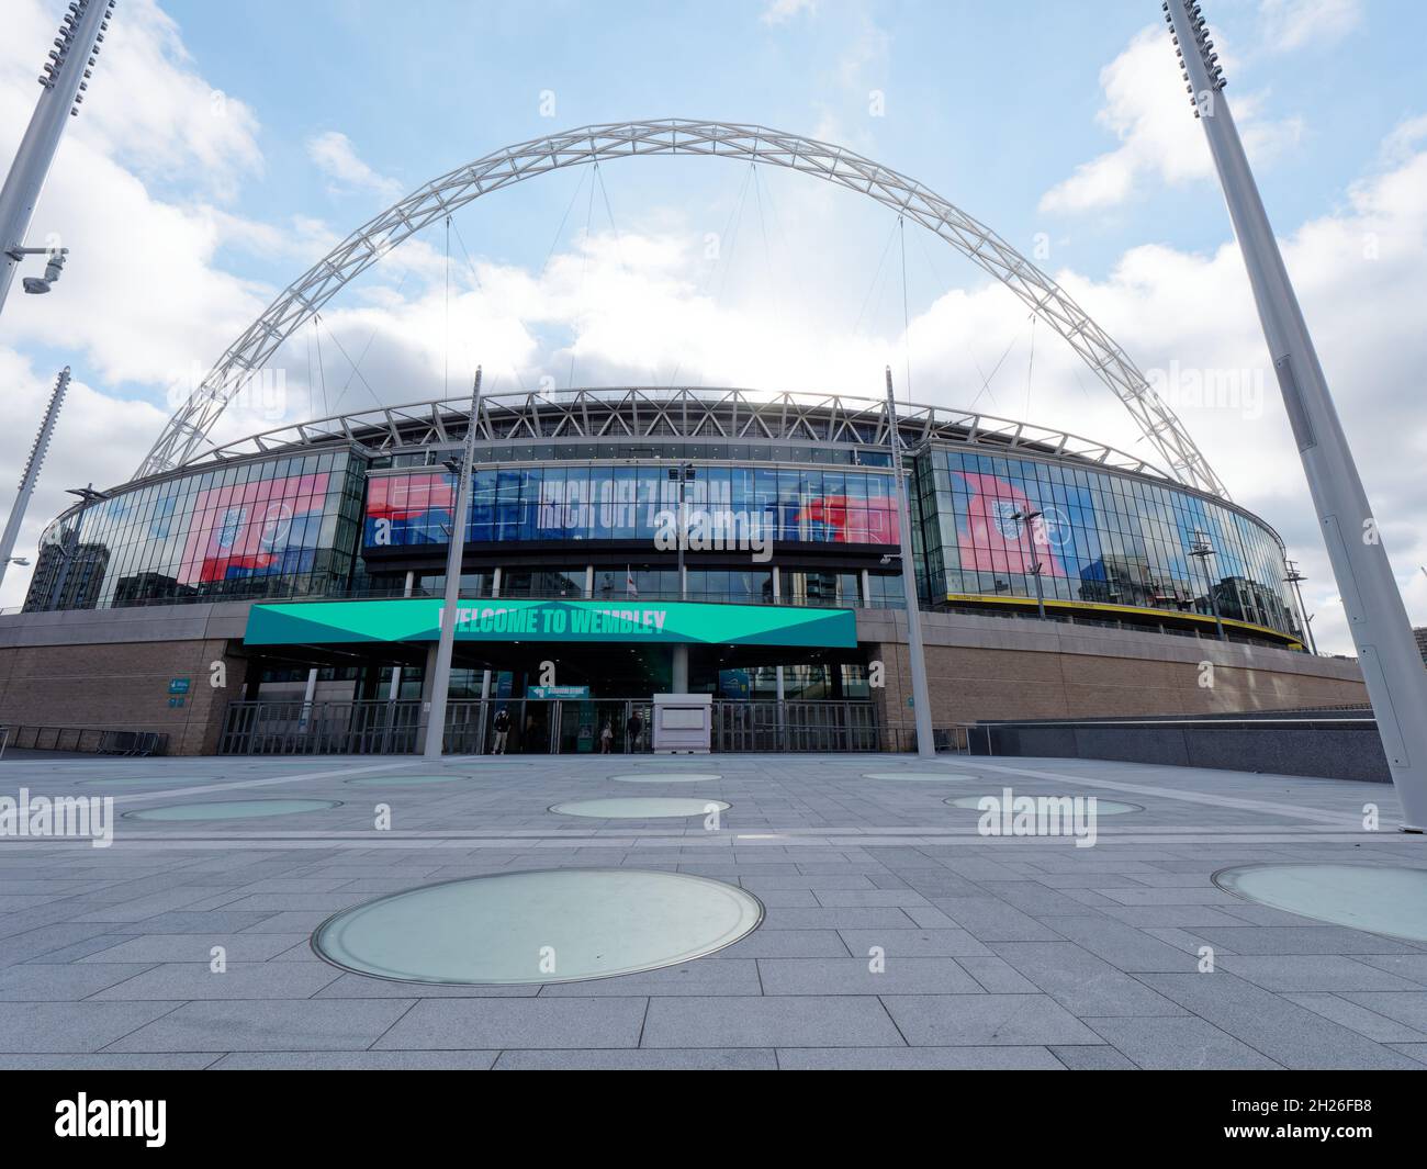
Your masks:
<svg viewBox="0 0 1427 1169"><path fill-rule="evenodd" d="M230 398L283 341L301 328L347 281L435 220L482 194L538 174L652 154L711 154L786 167L859 191L922 224L1010 288L1070 344L1090 371L1130 411L1176 480L1227 498L1229 492L1183 424L1129 355L1063 288L983 223L920 183L842 147L762 126L682 118L585 126L532 138L487 154L418 187L352 231L278 294L168 420L138 474L150 475L190 462L200 452L208 430Z"/></svg>

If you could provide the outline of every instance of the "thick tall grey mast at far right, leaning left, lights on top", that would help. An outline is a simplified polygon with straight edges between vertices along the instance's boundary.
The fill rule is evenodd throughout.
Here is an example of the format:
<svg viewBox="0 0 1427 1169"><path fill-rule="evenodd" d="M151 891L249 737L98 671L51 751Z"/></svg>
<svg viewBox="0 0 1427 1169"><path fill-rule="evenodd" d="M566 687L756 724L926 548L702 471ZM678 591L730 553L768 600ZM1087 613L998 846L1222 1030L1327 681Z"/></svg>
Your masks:
<svg viewBox="0 0 1427 1169"><path fill-rule="evenodd" d="M1219 54L1197 3L1164 0L1194 117L1214 156L1239 250L1249 270L1269 355L1283 391L1309 491L1357 647L1377 732L1403 805L1403 828L1427 826L1427 669L1413 638L1393 565L1259 198L1243 143L1224 101Z"/></svg>

